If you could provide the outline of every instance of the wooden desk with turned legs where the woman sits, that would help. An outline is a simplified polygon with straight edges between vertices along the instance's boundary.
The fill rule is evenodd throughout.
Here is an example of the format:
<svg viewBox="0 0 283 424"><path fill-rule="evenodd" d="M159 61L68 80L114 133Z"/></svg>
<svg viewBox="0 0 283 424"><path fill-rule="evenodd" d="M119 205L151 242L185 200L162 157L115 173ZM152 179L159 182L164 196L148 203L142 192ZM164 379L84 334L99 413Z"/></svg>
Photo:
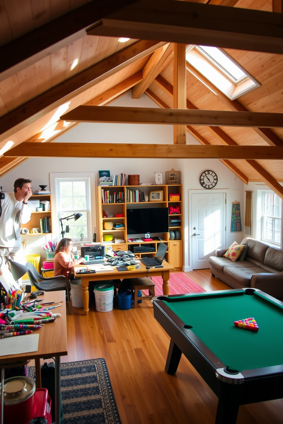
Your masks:
<svg viewBox="0 0 283 424"><path fill-rule="evenodd" d="M175 268L168 264L168 262L162 262L163 268L150 268L149 276L161 275L163 279L162 290L163 294L169 294L169 277L170 271L175 271ZM78 267L84 266L83 264L78 265ZM140 268L135 269L134 271L117 271L116 267L113 266L113 271L102 271L95 274L77 274L76 268L74 267L75 277L81 278L82 286L82 301L84 305L84 315L88 315L89 311L89 293L88 293L88 283L90 281L100 281L100 280L114 280L114 279L124 279L124 278L140 278L147 276L146 266L140 262ZM91 268L91 266L90 266Z"/></svg>

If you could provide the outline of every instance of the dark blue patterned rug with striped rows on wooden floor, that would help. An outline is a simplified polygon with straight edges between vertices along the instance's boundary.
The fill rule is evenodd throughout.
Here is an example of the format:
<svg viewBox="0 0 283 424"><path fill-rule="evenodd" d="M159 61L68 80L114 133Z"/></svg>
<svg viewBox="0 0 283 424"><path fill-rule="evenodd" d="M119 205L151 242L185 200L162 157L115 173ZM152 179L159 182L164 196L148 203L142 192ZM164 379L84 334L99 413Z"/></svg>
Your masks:
<svg viewBox="0 0 283 424"><path fill-rule="evenodd" d="M62 363L61 392L62 424L121 424L103 358Z"/></svg>

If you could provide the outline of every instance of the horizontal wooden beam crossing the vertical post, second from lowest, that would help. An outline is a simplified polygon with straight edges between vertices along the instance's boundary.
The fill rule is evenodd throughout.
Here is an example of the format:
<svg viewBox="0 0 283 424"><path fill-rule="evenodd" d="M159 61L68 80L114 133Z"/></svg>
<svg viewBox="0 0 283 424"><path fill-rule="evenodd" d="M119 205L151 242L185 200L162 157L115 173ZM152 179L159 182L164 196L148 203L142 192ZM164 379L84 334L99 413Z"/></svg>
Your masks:
<svg viewBox="0 0 283 424"><path fill-rule="evenodd" d="M78 106L61 116L72 122L104 122L232 127L283 127L282 113Z"/></svg>

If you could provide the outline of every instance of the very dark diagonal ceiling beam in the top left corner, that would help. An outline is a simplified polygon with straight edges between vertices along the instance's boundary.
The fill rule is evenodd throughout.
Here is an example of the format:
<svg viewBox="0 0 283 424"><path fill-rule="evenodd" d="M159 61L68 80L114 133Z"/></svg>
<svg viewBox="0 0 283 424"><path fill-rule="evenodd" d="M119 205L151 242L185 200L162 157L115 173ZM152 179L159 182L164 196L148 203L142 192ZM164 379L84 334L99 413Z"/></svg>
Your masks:
<svg viewBox="0 0 283 424"><path fill-rule="evenodd" d="M96 0L0 47L0 81L87 35L86 30L109 10L134 0Z"/></svg>

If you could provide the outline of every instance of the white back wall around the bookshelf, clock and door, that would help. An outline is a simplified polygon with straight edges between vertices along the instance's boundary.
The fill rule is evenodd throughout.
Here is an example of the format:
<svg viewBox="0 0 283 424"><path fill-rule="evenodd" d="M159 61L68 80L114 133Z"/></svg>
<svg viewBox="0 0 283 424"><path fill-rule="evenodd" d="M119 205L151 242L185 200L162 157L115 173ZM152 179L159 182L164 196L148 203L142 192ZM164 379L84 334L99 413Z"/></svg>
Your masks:
<svg viewBox="0 0 283 424"><path fill-rule="evenodd" d="M112 103L112 106L137 106L137 107L157 107L146 95L140 99L132 99L127 93L120 99ZM104 123L82 123L71 129L55 142L106 142L106 143L156 143L173 144L173 127L169 125L138 125L138 124L104 124ZM199 144L190 134L187 133L187 144ZM52 149L52 144L50 144ZM199 183L200 174L207 169L214 170L218 176L216 189L230 189L230 201L227 207L227 245L234 239L241 241L243 232L230 233L231 225L231 202L238 200L241 202L242 228L244 229L244 204L243 193L244 183L239 179L239 190L232 190L235 175L228 170L217 159L103 159L103 158L31 158L20 164L17 168L0 178L0 185L3 191L13 191L13 184L17 178L29 178L32 186L36 190L39 184L48 184L50 187L49 173L51 172L96 172L96 185L98 185L98 170L110 170L111 174L125 172L128 174L139 174L140 182L154 183L154 172L163 172L163 183L165 184L165 171L181 171L181 183L184 186L184 223L185 223L185 243L184 243L184 264L185 270L189 268L188 251L188 211L189 200L188 190L202 189ZM245 186L247 187L247 186ZM53 199L55 201L55 199ZM98 228L98 223L92 223L93 228ZM27 243L27 254L39 253L44 255L40 247L46 242L45 237L30 236L25 239Z"/></svg>

